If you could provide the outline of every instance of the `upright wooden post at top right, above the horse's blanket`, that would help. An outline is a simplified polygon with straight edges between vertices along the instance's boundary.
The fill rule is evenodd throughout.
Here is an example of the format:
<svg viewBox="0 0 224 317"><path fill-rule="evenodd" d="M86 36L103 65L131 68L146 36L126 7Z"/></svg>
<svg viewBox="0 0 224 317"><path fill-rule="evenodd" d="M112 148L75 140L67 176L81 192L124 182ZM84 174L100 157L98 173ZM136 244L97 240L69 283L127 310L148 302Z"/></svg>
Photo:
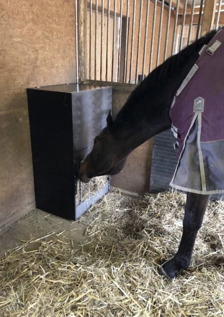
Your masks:
<svg viewBox="0 0 224 317"><path fill-rule="evenodd" d="M202 17L201 36L209 32L213 28L217 0L205 0Z"/></svg>

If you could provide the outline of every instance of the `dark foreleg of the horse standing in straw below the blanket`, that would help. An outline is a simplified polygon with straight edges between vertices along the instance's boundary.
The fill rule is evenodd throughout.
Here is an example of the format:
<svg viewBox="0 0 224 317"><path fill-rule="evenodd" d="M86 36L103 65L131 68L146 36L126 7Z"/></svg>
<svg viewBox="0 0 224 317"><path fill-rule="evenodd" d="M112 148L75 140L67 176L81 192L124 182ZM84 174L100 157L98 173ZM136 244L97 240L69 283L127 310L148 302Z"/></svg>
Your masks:
<svg viewBox="0 0 224 317"><path fill-rule="evenodd" d="M187 193L179 249L174 258L163 264L161 272L164 275L174 278L178 275L179 270L186 270L190 265L195 239L202 226L209 199L210 195Z"/></svg>

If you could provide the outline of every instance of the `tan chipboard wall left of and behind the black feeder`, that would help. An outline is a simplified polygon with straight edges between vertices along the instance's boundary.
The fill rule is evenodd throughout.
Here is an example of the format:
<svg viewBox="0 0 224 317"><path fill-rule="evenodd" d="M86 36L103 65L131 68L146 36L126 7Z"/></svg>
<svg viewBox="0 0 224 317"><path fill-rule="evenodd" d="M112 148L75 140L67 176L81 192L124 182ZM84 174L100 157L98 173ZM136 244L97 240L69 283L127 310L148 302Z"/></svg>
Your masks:
<svg viewBox="0 0 224 317"><path fill-rule="evenodd" d="M26 88L75 81L74 1L0 2L0 227L35 205Z"/></svg>

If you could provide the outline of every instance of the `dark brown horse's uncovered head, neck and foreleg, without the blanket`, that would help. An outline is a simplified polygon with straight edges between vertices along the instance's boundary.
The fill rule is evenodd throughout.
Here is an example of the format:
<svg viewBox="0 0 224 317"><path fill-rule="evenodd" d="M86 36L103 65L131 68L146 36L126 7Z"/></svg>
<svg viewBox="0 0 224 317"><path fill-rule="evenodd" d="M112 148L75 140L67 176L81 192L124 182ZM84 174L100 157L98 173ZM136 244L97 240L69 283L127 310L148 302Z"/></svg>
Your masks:
<svg viewBox="0 0 224 317"><path fill-rule="evenodd" d="M91 153L80 166L81 181L117 174L134 148L171 127L172 98L197 61L202 46L215 34L216 31L210 32L158 66L137 86L114 120L109 114L107 127L95 138ZM188 268L209 198L210 195L187 193L178 252L161 268L166 276L174 278L179 270Z"/></svg>

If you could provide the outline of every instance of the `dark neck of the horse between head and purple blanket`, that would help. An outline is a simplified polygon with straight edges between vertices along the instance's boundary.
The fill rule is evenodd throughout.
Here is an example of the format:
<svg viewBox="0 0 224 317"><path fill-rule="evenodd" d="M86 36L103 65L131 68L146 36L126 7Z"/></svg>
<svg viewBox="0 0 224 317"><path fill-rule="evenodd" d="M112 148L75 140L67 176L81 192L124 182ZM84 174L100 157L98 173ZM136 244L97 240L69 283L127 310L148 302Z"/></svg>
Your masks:
<svg viewBox="0 0 224 317"><path fill-rule="evenodd" d="M172 99L197 61L198 52L214 36L209 35L158 66L130 95L114 121L114 134L120 141L122 156L171 127Z"/></svg>

